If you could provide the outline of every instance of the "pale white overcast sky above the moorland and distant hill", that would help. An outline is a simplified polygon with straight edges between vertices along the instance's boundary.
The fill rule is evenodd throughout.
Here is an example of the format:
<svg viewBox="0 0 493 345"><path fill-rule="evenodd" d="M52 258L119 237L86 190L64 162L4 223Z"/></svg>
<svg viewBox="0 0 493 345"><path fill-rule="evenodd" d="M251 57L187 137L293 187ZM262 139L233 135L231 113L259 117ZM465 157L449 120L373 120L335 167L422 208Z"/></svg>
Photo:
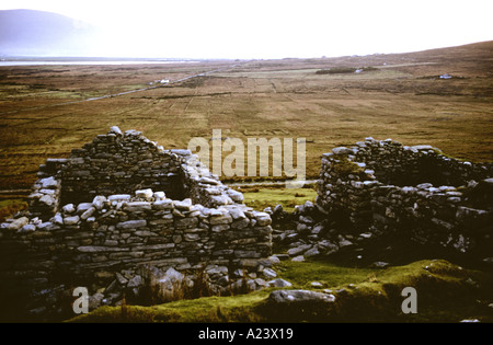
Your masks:
<svg viewBox="0 0 493 345"><path fill-rule="evenodd" d="M284 58L493 39L493 0L1 0L104 27L102 55Z"/></svg>

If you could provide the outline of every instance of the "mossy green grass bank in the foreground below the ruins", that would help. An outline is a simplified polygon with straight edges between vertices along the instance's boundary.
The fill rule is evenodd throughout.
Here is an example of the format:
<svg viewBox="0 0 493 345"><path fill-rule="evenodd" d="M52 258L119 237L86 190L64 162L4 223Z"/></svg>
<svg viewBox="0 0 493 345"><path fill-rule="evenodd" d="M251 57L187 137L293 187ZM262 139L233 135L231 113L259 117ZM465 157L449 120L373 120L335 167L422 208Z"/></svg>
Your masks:
<svg viewBox="0 0 493 345"><path fill-rule="evenodd" d="M324 262L280 264L294 288L322 283L335 296L330 306L272 308L273 289L233 297L207 297L153 307L103 307L71 322L493 322L492 276L446 261L420 261L386 269L351 268ZM404 287L417 291L417 314L403 314Z"/></svg>

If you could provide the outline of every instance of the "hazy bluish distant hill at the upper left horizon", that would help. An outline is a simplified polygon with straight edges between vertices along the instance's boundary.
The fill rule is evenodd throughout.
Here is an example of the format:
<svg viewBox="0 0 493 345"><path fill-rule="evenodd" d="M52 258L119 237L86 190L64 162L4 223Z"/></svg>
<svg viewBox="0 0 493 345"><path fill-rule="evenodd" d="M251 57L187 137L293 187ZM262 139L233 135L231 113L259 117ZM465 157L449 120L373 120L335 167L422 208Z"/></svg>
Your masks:
<svg viewBox="0 0 493 345"><path fill-rule="evenodd" d="M1 56L88 56L98 36L95 26L61 14L0 11Z"/></svg>

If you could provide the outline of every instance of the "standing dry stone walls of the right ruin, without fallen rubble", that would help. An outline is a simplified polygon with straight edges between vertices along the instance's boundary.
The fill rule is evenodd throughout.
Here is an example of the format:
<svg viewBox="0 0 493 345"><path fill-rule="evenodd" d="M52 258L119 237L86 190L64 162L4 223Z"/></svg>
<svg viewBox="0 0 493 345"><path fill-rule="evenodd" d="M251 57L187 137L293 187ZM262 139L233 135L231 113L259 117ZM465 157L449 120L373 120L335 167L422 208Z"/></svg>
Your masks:
<svg viewBox="0 0 493 345"><path fill-rule="evenodd" d="M317 206L355 233L398 232L420 243L493 256L493 164L431 146L367 138L324 153Z"/></svg>

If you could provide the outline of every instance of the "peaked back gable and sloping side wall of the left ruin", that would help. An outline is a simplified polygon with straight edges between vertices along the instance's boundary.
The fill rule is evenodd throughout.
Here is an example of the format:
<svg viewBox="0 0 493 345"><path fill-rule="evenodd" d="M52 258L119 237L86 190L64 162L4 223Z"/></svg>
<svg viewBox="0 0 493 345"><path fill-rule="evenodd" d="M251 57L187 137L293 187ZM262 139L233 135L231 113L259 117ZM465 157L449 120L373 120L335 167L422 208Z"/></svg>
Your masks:
<svg viewBox="0 0 493 345"><path fill-rule="evenodd" d="M133 194L151 188L172 199L192 198L208 207L243 200L223 186L188 150L164 150L140 131L112 127L68 159L48 159L30 196L33 216L46 220L61 205L92 202L99 195Z"/></svg>

